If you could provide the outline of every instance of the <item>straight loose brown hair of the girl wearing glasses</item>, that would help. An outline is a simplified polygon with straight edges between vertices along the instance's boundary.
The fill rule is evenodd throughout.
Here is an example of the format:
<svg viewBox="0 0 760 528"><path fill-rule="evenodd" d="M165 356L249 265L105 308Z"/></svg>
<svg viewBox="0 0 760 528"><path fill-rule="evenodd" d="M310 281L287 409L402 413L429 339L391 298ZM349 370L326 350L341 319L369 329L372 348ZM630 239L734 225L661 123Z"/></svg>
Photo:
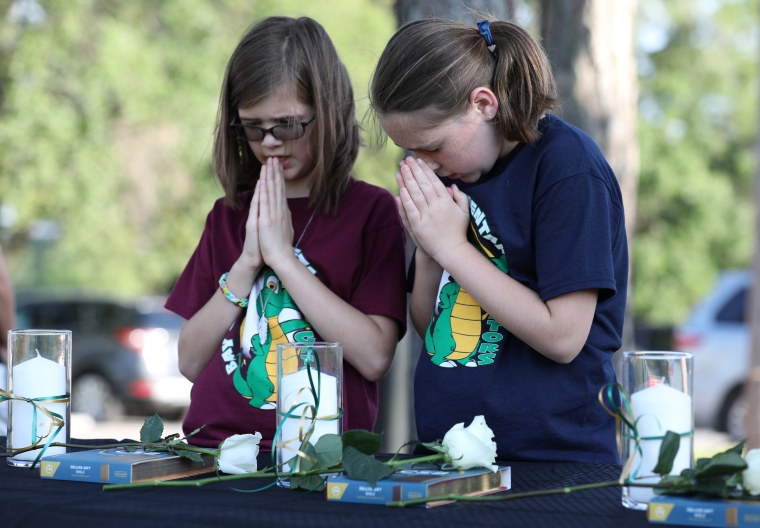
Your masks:
<svg viewBox="0 0 760 528"><path fill-rule="evenodd" d="M348 71L324 28L311 18L270 17L251 27L227 64L214 139L216 175L225 203L241 207L240 191L252 189L261 164L230 127L238 109L280 87L314 107L315 139L310 203L321 212L337 206L361 145Z"/></svg>

